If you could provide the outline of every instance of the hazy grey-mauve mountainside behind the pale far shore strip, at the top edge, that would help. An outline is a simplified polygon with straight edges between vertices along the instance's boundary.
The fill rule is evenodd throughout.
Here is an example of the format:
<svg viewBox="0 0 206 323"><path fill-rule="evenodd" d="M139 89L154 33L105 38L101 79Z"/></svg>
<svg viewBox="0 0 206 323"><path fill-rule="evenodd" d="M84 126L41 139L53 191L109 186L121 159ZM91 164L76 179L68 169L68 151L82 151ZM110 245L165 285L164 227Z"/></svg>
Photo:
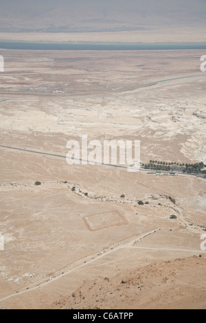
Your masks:
<svg viewBox="0 0 206 323"><path fill-rule="evenodd" d="M106 32L205 25L205 0L1 1L0 32Z"/></svg>

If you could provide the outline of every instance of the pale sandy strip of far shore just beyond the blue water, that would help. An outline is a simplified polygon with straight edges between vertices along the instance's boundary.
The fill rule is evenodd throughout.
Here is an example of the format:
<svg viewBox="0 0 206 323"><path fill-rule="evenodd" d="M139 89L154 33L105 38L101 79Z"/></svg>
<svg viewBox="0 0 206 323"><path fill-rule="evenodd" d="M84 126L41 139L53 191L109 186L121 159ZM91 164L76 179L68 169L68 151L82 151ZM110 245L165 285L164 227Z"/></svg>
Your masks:
<svg viewBox="0 0 206 323"><path fill-rule="evenodd" d="M0 32L1 41L54 43L205 43L205 26L151 26L121 32Z"/></svg>

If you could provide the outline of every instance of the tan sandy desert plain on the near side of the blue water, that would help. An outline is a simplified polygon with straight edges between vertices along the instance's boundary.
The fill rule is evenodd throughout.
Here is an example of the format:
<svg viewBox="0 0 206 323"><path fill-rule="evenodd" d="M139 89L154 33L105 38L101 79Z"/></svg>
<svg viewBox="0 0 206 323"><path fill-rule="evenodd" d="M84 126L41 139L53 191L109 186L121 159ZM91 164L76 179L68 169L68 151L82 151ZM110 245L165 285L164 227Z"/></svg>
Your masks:
<svg viewBox="0 0 206 323"><path fill-rule="evenodd" d="M204 178L28 152L88 135L205 161L205 51L0 54L1 309L206 309Z"/></svg>

